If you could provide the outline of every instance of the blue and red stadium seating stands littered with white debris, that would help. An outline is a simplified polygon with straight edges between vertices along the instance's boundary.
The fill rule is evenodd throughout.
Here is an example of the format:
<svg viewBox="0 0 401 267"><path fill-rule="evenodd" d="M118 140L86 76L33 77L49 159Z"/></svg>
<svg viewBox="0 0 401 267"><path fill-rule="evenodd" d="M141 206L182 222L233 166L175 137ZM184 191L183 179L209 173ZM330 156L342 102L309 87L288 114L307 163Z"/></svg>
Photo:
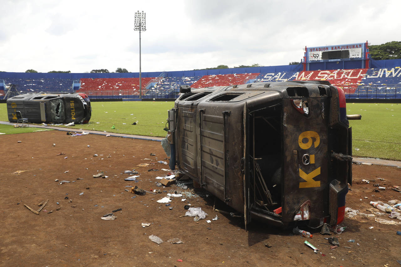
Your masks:
<svg viewBox="0 0 401 267"><path fill-rule="evenodd" d="M180 85L202 88L252 82L327 80L341 87L346 98L401 99L401 60L372 60L371 64L377 67L302 71L299 64L142 73L142 98L174 99L179 95ZM15 85L14 93L84 92L92 99L139 99L139 73L0 72L0 97L7 94L8 85Z"/></svg>

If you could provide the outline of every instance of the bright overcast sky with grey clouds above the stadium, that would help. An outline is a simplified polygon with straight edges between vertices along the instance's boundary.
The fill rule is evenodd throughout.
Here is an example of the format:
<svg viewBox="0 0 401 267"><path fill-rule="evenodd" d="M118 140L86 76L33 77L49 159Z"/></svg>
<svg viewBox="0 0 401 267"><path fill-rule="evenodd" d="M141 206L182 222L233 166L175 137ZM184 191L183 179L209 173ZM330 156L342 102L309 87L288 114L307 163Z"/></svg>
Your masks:
<svg viewBox="0 0 401 267"><path fill-rule="evenodd" d="M0 0L0 71L288 65L304 47L400 41L399 0Z"/></svg>

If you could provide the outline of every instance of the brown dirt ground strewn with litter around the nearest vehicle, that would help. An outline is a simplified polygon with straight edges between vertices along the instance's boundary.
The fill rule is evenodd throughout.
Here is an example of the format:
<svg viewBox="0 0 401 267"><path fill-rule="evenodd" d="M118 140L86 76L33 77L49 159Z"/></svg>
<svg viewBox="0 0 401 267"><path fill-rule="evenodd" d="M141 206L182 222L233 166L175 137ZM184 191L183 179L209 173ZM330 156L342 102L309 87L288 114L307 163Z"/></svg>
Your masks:
<svg viewBox="0 0 401 267"><path fill-rule="evenodd" d="M166 193L132 198L134 195L125 191L126 185L180 191L176 185L155 186L155 177L164 176L167 172L161 169L168 166L157 163L136 167L156 158L164 160L166 154L160 142L93 134L71 137L64 131L6 135L0 141L2 266L397 266L395 260L401 259L401 236L396 235L401 225L382 225L374 217L346 218L342 225L347 228L338 235L340 247L334 250L320 244L327 241L311 231L315 235L308 241L321 252L315 254L304 245L306 239L292 235L291 230L253 222L245 231L241 218L213 212L213 197L207 197L205 192L187 197L185 202L175 198L172 210L156 202ZM56 156L59 152L65 155ZM133 168L138 170L142 182L123 180L128 175L122 172ZM148 172L150 168L159 171ZM24 172L13 174L18 170ZM109 177L93 178L99 171ZM401 185L400 174L401 170L395 167L354 165L354 185L346 206L370 213L366 211L372 208L370 200L401 199L399 192L374 192L373 186L373 181L386 187ZM385 180L380 181L379 177ZM75 182L59 184L56 178ZM372 182L366 184L361 179ZM84 194L80 196L81 192ZM72 202L68 203L65 196ZM35 215L23 205L37 209L38 203L46 199L49 203L45 209L53 213ZM207 223L194 222L192 217L179 218L187 203L200 206L209 214L207 219L216 214L219 219ZM100 219L117 208L122 210L115 212L115 220ZM141 223L145 222L152 224L142 228ZM371 226L373 229L369 229ZM160 237L164 243L157 245L149 240L150 235ZM175 237L184 243L166 242ZM355 243L346 242L349 239L355 239Z"/></svg>

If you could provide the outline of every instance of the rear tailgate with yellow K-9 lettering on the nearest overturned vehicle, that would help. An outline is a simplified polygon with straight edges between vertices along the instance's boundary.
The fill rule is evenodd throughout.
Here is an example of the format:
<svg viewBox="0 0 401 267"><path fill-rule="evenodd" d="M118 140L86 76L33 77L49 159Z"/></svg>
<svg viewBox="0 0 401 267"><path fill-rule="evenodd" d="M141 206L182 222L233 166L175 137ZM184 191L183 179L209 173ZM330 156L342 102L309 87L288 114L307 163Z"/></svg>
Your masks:
<svg viewBox="0 0 401 267"><path fill-rule="evenodd" d="M327 97L283 99L282 219L328 216Z"/></svg>

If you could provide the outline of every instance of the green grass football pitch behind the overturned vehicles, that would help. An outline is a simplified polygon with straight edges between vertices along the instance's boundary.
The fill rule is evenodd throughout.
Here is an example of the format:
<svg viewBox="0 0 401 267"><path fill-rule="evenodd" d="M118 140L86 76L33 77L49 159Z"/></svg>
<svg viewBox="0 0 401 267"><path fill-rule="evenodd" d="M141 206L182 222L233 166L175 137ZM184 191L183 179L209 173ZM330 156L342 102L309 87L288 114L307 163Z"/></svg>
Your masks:
<svg viewBox="0 0 401 267"><path fill-rule="evenodd" d="M91 102L91 105L91 120L76 125L75 129L165 137L167 111L174 102ZM350 121L353 156L401 160L401 104L347 103L347 114L362 115L362 120ZM0 120L8 121L5 103L0 104ZM137 124L132 125L134 122ZM115 129L111 129L113 125Z"/></svg>

